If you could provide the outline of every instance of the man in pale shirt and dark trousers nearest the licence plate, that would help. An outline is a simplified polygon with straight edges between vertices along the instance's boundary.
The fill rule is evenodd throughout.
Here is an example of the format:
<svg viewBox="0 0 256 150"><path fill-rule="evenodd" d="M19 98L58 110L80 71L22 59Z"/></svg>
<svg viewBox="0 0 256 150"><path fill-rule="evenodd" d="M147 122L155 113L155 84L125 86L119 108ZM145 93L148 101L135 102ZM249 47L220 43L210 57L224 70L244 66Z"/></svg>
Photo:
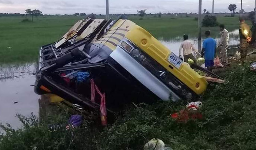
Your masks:
<svg viewBox="0 0 256 150"><path fill-rule="evenodd" d="M192 59L194 61L194 64L197 64L197 59L193 55L193 50L197 53L197 49L195 49L194 45L188 40L188 35L183 35L184 41L181 43L180 49L179 49L179 57L183 58L184 61L188 62L188 59Z"/></svg>

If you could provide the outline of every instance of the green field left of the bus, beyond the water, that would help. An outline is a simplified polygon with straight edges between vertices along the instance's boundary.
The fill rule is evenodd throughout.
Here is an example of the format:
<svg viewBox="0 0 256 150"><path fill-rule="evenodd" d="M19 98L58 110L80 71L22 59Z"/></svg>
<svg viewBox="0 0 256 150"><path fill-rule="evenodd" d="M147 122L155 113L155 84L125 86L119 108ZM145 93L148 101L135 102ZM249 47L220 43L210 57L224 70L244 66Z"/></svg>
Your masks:
<svg viewBox="0 0 256 150"><path fill-rule="evenodd" d="M0 18L0 63L36 61L39 48L57 41L79 18L38 17L33 23L22 20Z"/></svg>

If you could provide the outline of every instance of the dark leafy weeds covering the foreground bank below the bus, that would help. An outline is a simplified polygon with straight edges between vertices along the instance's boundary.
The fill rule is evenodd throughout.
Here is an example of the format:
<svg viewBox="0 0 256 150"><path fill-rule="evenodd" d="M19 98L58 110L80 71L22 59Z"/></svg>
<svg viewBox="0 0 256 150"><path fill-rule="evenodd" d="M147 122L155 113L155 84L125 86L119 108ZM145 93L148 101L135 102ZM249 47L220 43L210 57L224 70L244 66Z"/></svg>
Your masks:
<svg viewBox="0 0 256 150"><path fill-rule="evenodd" d="M141 150L148 140L159 138L175 150L254 150L256 73L248 65L232 64L221 76L228 82L211 85L200 98L202 120L171 119L170 114L184 109L185 102L131 105L108 127L85 120L72 133L65 129L70 116L66 111L40 124L34 116L18 115L24 129L1 125L6 134L0 135L0 149ZM49 132L48 124L60 128Z"/></svg>

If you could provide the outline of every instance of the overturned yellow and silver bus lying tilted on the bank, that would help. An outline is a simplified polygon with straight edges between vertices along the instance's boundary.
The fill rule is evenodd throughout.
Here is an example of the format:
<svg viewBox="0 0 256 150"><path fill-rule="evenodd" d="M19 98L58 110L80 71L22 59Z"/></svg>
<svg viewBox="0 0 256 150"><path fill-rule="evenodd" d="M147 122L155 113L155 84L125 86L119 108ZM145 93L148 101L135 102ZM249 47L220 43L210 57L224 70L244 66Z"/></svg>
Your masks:
<svg viewBox="0 0 256 150"><path fill-rule="evenodd" d="M86 18L40 48L34 91L115 112L129 102L193 100L208 82L130 20ZM99 93L99 94L95 94Z"/></svg>

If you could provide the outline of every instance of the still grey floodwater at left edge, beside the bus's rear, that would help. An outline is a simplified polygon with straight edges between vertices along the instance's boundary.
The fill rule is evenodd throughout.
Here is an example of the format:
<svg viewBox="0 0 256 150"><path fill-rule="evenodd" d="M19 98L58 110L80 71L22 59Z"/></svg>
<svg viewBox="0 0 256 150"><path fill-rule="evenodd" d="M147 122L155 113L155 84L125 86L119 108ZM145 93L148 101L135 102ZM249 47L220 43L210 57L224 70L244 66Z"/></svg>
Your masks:
<svg viewBox="0 0 256 150"><path fill-rule="evenodd" d="M35 65L0 66L0 122L10 123L12 127L21 127L16 114L29 116L31 112L38 116L39 96L34 93Z"/></svg>

